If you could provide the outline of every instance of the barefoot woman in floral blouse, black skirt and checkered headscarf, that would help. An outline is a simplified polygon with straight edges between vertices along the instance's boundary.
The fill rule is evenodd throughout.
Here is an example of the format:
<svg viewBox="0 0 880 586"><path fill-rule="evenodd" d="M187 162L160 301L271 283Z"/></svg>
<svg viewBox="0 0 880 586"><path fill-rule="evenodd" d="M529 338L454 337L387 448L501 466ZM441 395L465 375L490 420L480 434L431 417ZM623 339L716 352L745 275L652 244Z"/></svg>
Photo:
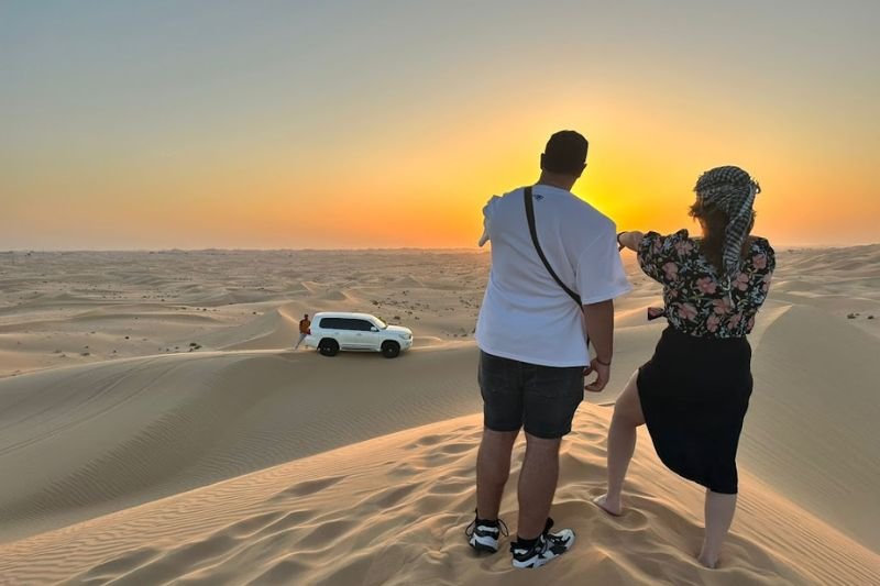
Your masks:
<svg viewBox="0 0 880 586"><path fill-rule="evenodd" d="M716 567L736 510L736 451L752 389L746 334L767 299L776 256L749 236L760 187L738 167L703 174L691 215L703 236L623 232L620 246L638 253L642 270L663 286L666 317L653 356L617 399L608 431L608 490L595 502L620 515L624 477L647 423L660 460L706 487L706 532L700 562Z"/></svg>

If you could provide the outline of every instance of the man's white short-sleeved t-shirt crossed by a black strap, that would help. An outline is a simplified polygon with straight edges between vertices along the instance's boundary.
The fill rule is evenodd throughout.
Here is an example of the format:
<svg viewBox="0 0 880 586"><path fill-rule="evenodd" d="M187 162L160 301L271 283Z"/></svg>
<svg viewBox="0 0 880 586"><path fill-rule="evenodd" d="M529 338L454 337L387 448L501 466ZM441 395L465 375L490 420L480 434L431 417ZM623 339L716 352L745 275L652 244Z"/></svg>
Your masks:
<svg viewBox="0 0 880 586"><path fill-rule="evenodd" d="M614 222L564 189L536 185L532 198L538 242L566 287L585 305L630 290ZM480 349L543 366L590 364L583 314L535 250L522 188L493 197L483 215L480 245L492 241L492 270L476 323Z"/></svg>

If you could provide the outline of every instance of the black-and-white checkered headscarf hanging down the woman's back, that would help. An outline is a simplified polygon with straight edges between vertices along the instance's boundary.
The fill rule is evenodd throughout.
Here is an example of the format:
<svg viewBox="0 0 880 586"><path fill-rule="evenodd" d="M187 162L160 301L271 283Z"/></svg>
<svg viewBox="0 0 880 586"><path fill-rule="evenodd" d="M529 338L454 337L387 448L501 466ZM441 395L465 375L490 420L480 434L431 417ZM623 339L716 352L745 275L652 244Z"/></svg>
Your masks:
<svg viewBox="0 0 880 586"><path fill-rule="evenodd" d="M735 278L739 270L743 242L751 223L755 196L761 192L761 187L739 167L726 166L701 175L694 191L704 206L718 208L727 214L724 269L729 278Z"/></svg>

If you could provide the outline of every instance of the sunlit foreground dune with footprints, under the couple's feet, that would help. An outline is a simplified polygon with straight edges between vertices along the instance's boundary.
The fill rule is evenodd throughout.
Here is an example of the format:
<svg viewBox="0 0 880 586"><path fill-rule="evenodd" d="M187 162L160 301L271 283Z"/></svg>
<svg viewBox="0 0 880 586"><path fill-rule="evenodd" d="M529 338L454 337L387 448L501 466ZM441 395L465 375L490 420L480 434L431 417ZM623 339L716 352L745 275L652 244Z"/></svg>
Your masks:
<svg viewBox="0 0 880 586"><path fill-rule="evenodd" d="M513 572L506 555L476 557L464 543L480 434L473 416L20 541L0 550L0 572L22 584L526 585L575 584L586 576L596 584L880 581L876 554L770 489L744 497L727 550L736 563L702 568L689 555L701 539L701 495L662 469L645 436L631 473L631 509L620 519L602 513L588 499L602 489L607 419L604 408L584 409L562 454L552 515L581 541L564 563L534 573ZM518 466L513 482L517 473ZM509 520L514 510L515 497L507 495L502 515Z"/></svg>

